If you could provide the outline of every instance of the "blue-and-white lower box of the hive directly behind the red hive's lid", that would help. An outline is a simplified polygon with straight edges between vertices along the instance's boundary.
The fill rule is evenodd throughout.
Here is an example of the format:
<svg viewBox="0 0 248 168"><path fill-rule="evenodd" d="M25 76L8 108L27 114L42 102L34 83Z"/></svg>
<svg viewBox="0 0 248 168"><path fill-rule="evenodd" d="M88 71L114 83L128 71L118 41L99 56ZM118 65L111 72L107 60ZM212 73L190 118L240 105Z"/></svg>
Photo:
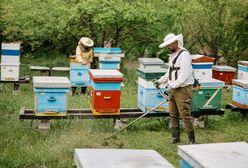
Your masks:
<svg viewBox="0 0 248 168"><path fill-rule="evenodd" d="M120 57L100 57L99 68L100 69L120 69L121 58Z"/></svg>

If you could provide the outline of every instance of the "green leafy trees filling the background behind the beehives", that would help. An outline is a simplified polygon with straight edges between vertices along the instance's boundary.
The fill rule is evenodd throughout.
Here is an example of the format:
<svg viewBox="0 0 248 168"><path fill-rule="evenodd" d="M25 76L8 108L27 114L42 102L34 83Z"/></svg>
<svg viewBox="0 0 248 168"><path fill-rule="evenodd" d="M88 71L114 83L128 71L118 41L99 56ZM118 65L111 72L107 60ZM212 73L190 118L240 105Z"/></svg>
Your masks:
<svg viewBox="0 0 248 168"><path fill-rule="evenodd" d="M24 52L75 49L82 36L107 39L127 58L166 57L167 33L182 33L191 53L235 63L248 56L248 1L243 0L2 0L0 40Z"/></svg>

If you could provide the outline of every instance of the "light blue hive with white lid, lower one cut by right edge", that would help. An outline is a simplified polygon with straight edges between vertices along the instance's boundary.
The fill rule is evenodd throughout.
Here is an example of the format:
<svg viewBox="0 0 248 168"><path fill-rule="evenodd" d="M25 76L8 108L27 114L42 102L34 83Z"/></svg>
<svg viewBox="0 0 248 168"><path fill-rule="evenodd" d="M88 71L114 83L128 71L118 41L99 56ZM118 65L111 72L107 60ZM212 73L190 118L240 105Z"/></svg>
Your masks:
<svg viewBox="0 0 248 168"><path fill-rule="evenodd" d="M248 79L233 80L233 103L241 108L248 108Z"/></svg>

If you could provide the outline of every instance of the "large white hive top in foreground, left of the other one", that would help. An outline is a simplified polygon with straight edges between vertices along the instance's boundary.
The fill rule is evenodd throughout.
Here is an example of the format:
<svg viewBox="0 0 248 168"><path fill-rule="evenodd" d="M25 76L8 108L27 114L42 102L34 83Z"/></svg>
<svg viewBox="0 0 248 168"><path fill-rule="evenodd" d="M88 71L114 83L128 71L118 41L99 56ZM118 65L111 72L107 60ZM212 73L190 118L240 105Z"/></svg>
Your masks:
<svg viewBox="0 0 248 168"><path fill-rule="evenodd" d="M154 150L75 149L77 168L174 168Z"/></svg>

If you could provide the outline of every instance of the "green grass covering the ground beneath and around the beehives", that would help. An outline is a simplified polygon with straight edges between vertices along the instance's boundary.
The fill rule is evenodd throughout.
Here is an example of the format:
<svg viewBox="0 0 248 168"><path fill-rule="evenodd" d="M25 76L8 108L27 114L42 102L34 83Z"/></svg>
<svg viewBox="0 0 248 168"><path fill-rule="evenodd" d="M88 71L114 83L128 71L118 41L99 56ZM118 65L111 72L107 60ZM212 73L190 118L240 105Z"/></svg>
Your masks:
<svg viewBox="0 0 248 168"><path fill-rule="evenodd" d="M69 63L61 55L55 59L26 57L22 59L22 76L31 75L29 65L53 67L69 66ZM121 107L137 107L135 70L124 69L124 74ZM30 127L30 121L19 120L21 107L34 108L32 83L21 85L19 93L13 93L12 87L4 84L0 90L0 167L74 167L75 148L154 149L179 167L177 145L168 143L171 134L165 118L142 119L104 146L104 138L114 132L112 119L53 120L49 131L38 131L38 121ZM223 107L231 101L231 94L231 89L223 90ZM68 108L88 107L88 96L69 95ZM247 117L226 110L224 116L208 117L206 128L196 128L196 140L197 143L248 142L247 130ZM181 139L180 144L187 144L185 131Z"/></svg>

